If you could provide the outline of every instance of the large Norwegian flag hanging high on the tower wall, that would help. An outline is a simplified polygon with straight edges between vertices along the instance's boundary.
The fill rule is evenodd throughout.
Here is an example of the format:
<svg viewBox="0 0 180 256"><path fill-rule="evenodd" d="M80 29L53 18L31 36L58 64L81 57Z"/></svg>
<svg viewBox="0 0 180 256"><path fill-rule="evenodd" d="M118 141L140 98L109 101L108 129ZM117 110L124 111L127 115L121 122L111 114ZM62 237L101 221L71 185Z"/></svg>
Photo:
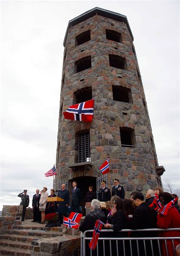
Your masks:
<svg viewBox="0 0 180 256"><path fill-rule="evenodd" d="M92 122L94 99L70 106L63 115L65 119Z"/></svg>

